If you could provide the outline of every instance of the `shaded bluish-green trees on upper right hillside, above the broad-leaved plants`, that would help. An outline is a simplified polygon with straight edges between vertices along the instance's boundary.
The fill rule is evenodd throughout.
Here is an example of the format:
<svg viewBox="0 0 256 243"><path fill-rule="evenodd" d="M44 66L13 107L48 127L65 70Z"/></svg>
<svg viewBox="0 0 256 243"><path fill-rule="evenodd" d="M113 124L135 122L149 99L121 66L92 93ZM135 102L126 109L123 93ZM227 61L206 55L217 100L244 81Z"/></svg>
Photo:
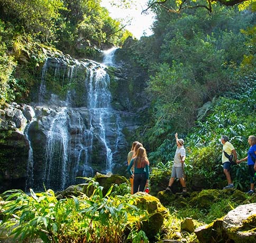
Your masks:
<svg viewBox="0 0 256 243"><path fill-rule="evenodd" d="M210 15L203 8L178 16L157 8L156 14L154 35L126 50L134 66L150 75L151 123L141 139L150 151L159 151L151 154L153 161L167 161L175 131L188 133L202 119L200 107L232 92L237 98L236 87L244 82L253 86L254 15L218 5Z"/></svg>

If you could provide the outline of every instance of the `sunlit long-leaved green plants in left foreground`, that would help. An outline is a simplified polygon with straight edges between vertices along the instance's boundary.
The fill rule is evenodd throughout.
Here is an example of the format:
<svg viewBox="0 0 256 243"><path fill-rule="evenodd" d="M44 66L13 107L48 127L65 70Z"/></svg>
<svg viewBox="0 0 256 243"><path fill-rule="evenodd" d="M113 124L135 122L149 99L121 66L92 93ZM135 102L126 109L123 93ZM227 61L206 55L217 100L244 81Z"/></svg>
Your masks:
<svg viewBox="0 0 256 243"><path fill-rule="evenodd" d="M90 186L95 188L90 197L81 193L59 201L52 190L30 190L31 195L7 191L2 195L2 227L20 241L40 238L43 242L147 242L138 223L145 211L136 208L131 197L112 195L112 188L103 195L102 186L93 181ZM130 233L125 234L126 227Z"/></svg>

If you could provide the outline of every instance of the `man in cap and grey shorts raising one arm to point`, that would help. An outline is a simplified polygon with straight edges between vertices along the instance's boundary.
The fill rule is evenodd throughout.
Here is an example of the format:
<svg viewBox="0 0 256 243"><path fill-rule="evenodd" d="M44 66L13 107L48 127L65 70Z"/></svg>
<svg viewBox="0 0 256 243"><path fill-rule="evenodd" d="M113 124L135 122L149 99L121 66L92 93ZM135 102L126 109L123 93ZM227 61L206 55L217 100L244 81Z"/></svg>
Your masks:
<svg viewBox="0 0 256 243"><path fill-rule="evenodd" d="M184 161L186 158L186 151L183 146L184 140L178 138L178 133L175 134L177 149L174 156L174 163L172 166L171 171L171 178L169 181L169 185L167 186L166 190L171 191L171 185L173 184L175 178L179 178L180 184L182 185L182 192L187 192L186 189L186 182L184 180Z"/></svg>

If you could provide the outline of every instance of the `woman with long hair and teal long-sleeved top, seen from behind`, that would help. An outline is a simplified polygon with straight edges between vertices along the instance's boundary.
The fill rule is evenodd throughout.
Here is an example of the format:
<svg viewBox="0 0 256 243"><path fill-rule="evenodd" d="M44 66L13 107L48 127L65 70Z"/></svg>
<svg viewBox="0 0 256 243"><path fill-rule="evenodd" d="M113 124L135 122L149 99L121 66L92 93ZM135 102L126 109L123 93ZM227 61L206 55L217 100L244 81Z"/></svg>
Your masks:
<svg viewBox="0 0 256 243"><path fill-rule="evenodd" d="M134 172L132 166L134 164ZM127 171L133 177L133 194L143 192L145 186L149 186L149 160L145 148L140 147L136 151L135 157L132 158Z"/></svg>

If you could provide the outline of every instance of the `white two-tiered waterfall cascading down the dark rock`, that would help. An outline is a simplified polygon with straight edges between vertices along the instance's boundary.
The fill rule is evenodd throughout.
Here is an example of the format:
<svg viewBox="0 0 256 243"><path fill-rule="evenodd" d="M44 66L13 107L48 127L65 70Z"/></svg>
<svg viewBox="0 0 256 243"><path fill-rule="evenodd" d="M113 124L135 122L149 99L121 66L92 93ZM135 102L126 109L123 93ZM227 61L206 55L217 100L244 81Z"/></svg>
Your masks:
<svg viewBox="0 0 256 243"><path fill-rule="evenodd" d="M114 51L108 52L112 58ZM105 70L113 64L112 58L106 57L104 64L64 57L46 60L36 121L28 127L32 152L37 149L30 162L37 172L27 180L32 188L40 190L44 184L63 190L77 183L78 176L112 172L118 151L126 146L120 115L111 106ZM66 98L47 91L51 86L67 90Z"/></svg>

